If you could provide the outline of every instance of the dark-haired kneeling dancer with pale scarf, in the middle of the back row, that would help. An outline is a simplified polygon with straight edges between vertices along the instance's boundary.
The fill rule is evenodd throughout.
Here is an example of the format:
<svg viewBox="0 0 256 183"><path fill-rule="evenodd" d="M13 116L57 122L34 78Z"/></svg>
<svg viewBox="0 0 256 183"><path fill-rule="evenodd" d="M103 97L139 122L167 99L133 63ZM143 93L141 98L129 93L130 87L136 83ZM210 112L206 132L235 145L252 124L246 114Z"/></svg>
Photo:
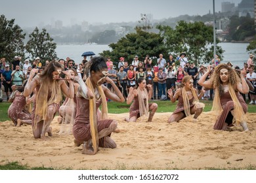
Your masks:
<svg viewBox="0 0 256 183"><path fill-rule="evenodd" d="M148 122L152 122L153 116L158 109L156 103L148 103L148 99L151 99L152 95L152 85L146 85L146 80L142 77L138 78L137 82L139 85L137 89L133 90L133 87L129 88L127 104L131 104L133 99L134 102L130 107L130 116L129 118L125 118L125 121L136 122L138 118L146 116L148 117Z"/></svg>

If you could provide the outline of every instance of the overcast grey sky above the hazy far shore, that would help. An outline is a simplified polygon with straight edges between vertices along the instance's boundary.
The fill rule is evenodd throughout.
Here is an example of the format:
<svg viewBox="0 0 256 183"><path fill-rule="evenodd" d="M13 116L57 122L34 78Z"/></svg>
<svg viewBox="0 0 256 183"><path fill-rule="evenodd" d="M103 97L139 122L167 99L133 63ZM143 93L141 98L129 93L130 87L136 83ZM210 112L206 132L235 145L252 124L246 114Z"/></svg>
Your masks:
<svg viewBox="0 0 256 183"><path fill-rule="evenodd" d="M221 3L230 1L237 6L242 0L215 0L215 12L221 11ZM213 0L0 0L0 14L21 27L34 27L41 22L62 20L63 25L83 21L136 22L140 14L152 14L155 20L177 17L182 14L203 15L213 12Z"/></svg>

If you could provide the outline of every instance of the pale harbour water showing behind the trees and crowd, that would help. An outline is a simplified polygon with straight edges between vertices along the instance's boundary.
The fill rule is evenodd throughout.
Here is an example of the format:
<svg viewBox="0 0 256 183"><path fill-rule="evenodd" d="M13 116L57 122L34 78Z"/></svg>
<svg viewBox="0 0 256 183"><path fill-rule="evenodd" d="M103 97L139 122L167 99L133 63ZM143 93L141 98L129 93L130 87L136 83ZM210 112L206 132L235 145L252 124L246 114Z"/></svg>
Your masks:
<svg viewBox="0 0 256 183"><path fill-rule="evenodd" d="M231 63L240 68L243 67L244 62L249 58L249 54L246 51L246 47L249 43L233 43L233 42L221 42L218 44L224 50L222 63ZM104 50L111 50L108 44L58 44L56 53L58 58L66 59L70 57L74 59L75 63L81 63L83 52L94 52L97 56ZM87 58L89 59L89 58Z"/></svg>

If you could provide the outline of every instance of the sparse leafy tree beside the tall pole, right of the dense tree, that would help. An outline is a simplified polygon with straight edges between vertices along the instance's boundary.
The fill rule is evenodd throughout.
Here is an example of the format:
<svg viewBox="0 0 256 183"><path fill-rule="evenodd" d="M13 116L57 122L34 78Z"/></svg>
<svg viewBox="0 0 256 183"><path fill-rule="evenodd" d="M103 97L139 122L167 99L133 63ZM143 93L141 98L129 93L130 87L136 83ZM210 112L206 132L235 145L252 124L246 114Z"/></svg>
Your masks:
<svg viewBox="0 0 256 183"><path fill-rule="evenodd" d="M175 29L162 25L158 25L158 29L169 54L179 56L181 52L186 52L188 60L194 61L196 65L209 63L213 59L213 27L204 25L203 22L180 21ZM220 58L223 52L220 46L216 46L216 54Z"/></svg>

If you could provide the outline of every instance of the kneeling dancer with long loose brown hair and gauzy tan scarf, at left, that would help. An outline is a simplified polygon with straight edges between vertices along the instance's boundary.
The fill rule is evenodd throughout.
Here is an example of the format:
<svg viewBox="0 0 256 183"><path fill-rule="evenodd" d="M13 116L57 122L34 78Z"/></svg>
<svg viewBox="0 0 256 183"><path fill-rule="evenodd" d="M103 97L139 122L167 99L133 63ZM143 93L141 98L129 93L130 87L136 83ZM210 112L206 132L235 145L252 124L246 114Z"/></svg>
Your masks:
<svg viewBox="0 0 256 183"><path fill-rule="evenodd" d="M66 97L74 97L74 86L72 82L68 87L64 80L58 80L60 73L64 73L68 78L71 78L71 75L68 71L62 71L62 65L56 61L51 61L42 73L33 77L35 72L38 72L38 69L32 69L28 81L33 80L26 84L24 96L27 97L36 89L32 110L33 136L35 139L46 139L45 133L53 135L50 125L60 108L62 92Z"/></svg>

